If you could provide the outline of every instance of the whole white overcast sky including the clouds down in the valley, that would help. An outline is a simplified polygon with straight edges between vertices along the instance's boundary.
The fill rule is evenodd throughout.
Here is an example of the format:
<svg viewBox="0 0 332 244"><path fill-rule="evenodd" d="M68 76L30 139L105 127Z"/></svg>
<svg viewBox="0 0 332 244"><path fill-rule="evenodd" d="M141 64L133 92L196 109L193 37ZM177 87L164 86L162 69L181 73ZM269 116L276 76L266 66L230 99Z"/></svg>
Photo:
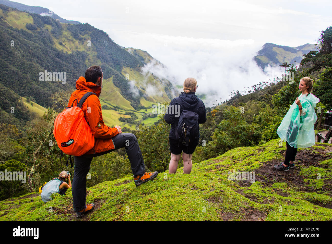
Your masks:
<svg viewBox="0 0 332 244"><path fill-rule="evenodd" d="M314 44L332 25L331 1L17 2L89 23L121 46L146 50L167 67L147 67L155 73L181 85L187 77L196 78L198 93L213 94L206 105L267 80L252 61L264 43Z"/></svg>

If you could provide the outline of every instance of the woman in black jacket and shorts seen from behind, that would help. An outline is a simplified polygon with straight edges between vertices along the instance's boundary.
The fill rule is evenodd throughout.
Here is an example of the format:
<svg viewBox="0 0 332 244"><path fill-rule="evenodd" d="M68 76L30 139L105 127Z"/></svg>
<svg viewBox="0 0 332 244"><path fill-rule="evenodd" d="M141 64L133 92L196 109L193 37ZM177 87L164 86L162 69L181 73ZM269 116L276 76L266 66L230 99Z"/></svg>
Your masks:
<svg viewBox="0 0 332 244"><path fill-rule="evenodd" d="M181 100L182 106L184 107L183 110L189 110L192 112L195 112L198 114L198 123L203 124L207 120L206 116L206 110L205 105L201 99L199 99L196 95L196 89L197 89L197 81L194 78L187 78L183 83L183 92L179 95L178 99ZM200 133L198 128L198 134L195 137L194 141L189 142L189 146L186 146L182 144L176 138L175 136L175 128L179 123L179 118L182 113L182 109L173 109L173 112L171 111L171 108L174 108L174 106L178 106L180 108L180 104L176 101L176 98L174 98L168 107L167 113L164 116L165 121L168 124L172 124L171 130L169 132L169 150L171 151L171 161L169 163L168 172L170 174L176 173L176 170L178 168L178 163L181 157L182 152L182 158L183 158L183 173L184 174L190 174L191 168L192 168L192 161L191 157L195 151L195 148L198 145L198 142L200 140ZM178 112L176 114L175 112ZM188 162L188 163L187 163Z"/></svg>

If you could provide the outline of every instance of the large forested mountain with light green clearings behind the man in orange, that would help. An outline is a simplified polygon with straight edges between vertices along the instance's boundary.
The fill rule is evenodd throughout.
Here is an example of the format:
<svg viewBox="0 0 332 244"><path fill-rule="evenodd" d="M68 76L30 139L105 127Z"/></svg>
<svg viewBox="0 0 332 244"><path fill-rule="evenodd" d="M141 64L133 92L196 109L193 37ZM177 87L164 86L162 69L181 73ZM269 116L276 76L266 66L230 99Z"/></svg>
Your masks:
<svg viewBox="0 0 332 244"><path fill-rule="evenodd" d="M176 94L169 81L141 72L144 64L153 60L147 52L132 48L131 54L89 24L63 24L48 16L0 5L0 32L0 112L4 115L0 122L10 122L11 117L29 120L31 116L21 108L19 96L51 107L50 98L57 92L74 90L75 80L91 65L103 69L106 89L100 100L110 108L142 110L169 101ZM45 70L53 76L44 77ZM54 80L54 72L60 72L62 80L57 76ZM9 95L11 91L15 95ZM114 92L116 96L112 96ZM11 107L17 111L4 114L10 113Z"/></svg>

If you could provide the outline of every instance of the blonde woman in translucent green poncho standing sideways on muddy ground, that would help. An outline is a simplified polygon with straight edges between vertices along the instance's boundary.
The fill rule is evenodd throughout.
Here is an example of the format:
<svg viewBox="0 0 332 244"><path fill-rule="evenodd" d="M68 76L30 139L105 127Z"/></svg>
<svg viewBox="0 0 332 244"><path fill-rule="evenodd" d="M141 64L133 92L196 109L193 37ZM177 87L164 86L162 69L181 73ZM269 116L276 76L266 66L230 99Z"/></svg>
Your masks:
<svg viewBox="0 0 332 244"><path fill-rule="evenodd" d="M315 107L319 99L310 93L312 87L313 83L309 77L300 80L298 88L302 93L290 106L278 127L277 134L281 140L286 140L287 149L285 161L273 166L276 170L289 171L290 168L294 168L297 148L315 145L314 123L317 120Z"/></svg>

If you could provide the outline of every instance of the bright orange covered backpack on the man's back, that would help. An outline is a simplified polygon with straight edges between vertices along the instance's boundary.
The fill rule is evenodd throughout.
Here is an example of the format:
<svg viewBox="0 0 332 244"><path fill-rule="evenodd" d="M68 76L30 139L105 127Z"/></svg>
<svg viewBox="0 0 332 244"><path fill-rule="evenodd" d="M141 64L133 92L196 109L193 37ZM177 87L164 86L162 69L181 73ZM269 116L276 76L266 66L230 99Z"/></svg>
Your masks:
<svg viewBox="0 0 332 244"><path fill-rule="evenodd" d="M54 120L55 140L61 151L68 155L82 156L94 147L95 137L82 110L84 101L92 94L96 95L87 92L79 102L75 99L77 106L73 106L74 100L71 106L65 108Z"/></svg>

